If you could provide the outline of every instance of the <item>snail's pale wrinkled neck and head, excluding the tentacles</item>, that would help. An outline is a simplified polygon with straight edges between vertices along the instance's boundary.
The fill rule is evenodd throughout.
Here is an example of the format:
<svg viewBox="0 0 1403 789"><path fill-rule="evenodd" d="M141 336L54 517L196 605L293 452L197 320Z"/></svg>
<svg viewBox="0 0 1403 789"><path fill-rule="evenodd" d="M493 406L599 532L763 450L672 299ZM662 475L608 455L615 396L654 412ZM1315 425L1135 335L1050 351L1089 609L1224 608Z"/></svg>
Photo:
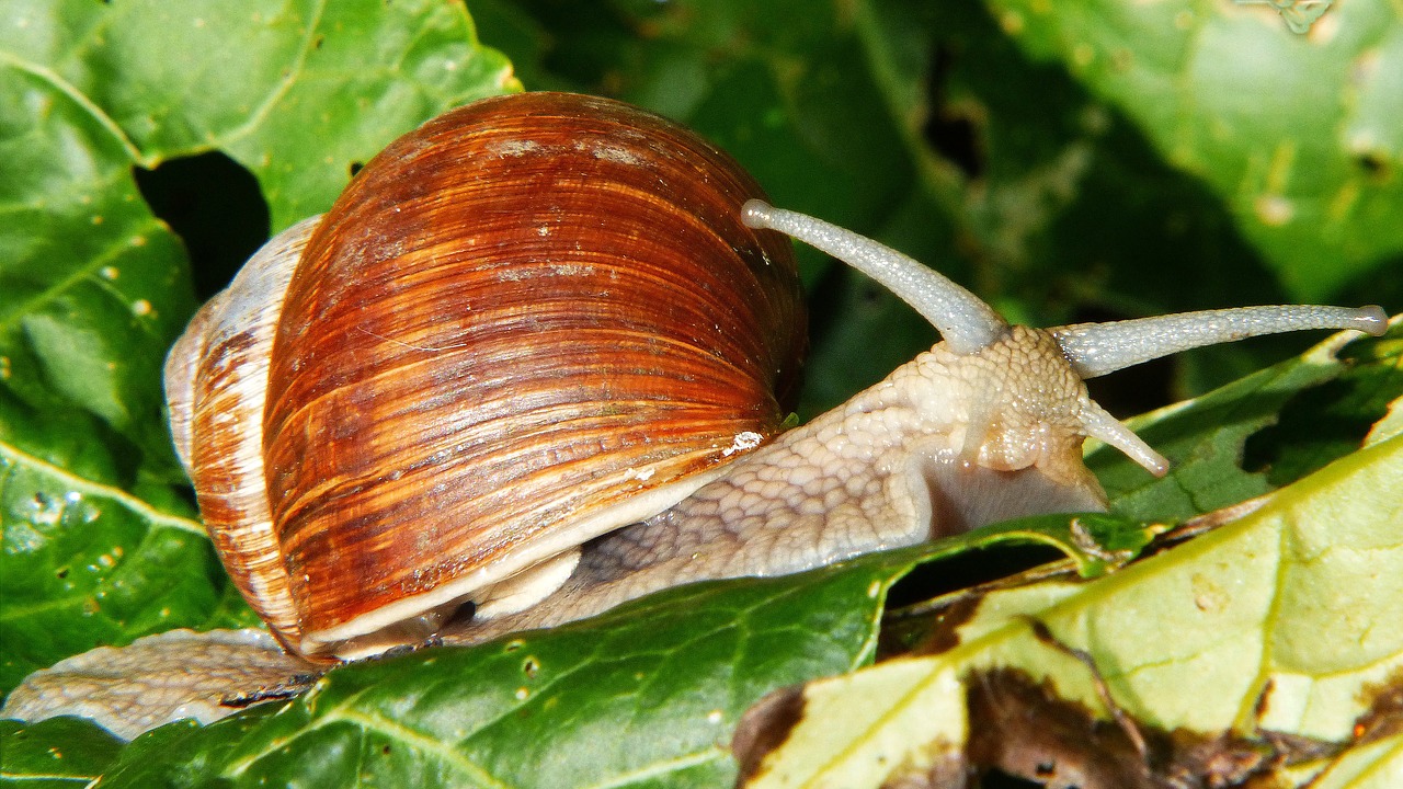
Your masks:
<svg viewBox="0 0 1403 789"><path fill-rule="evenodd" d="M1006 373L1019 361L1061 361L1030 358L1051 341L1014 327L972 357L940 345L920 354L676 505L591 543L557 592L467 640L581 619L683 583L797 573L1020 515L1104 511L1078 425L1042 421L1070 410L1017 413L1085 397L1065 362L1041 378ZM971 404L1000 394L1013 407L975 435Z"/></svg>

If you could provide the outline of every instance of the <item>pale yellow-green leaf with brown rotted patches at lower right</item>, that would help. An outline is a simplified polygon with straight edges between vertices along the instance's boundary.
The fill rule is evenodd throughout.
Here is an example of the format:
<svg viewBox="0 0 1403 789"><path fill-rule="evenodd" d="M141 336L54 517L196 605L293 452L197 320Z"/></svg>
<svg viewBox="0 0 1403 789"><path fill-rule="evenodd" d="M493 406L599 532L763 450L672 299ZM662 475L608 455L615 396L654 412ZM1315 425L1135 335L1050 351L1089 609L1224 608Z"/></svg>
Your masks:
<svg viewBox="0 0 1403 789"><path fill-rule="evenodd" d="M877 785L932 748L960 748L965 684L1010 668L1108 717L1104 682L1146 730L1350 743L1378 688L1396 694L1403 677L1399 486L1403 439L1392 438L1113 576L992 591L948 650L807 688L812 715L753 785ZM932 708L944 715L922 715ZM1396 769L1385 767L1395 751L1348 758Z"/></svg>

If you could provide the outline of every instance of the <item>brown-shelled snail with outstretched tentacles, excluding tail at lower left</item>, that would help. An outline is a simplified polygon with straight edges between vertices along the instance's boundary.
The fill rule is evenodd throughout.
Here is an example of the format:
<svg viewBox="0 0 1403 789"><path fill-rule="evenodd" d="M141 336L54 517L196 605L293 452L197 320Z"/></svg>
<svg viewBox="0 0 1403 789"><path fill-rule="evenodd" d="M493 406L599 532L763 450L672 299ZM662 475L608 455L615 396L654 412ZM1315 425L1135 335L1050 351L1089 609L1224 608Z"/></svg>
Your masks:
<svg viewBox="0 0 1403 789"><path fill-rule="evenodd" d="M518 94L396 140L260 250L173 348L167 393L216 550L295 665L1104 510L1083 438L1153 475L1167 462L1085 379L1386 327L1376 306L1009 326L919 263L763 201L669 121ZM941 336L788 431L805 340L786 236Z"/></svg>

